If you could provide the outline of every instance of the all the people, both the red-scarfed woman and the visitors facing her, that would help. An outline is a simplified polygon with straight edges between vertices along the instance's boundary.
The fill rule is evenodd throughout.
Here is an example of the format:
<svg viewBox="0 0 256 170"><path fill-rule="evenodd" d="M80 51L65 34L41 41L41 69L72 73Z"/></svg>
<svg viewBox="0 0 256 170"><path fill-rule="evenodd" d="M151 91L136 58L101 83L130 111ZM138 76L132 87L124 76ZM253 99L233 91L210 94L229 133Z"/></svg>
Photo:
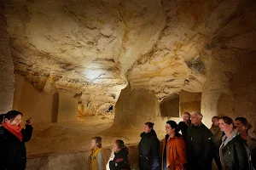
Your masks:
<svg viewBox="0 0 256 170"><path fill-rule="evenodd" d="M0 115L0 167L6 170L26 169L26 145L32 137L31 119L26 128L20 125L22 113L9 111ZM256 135L245 117L233 121L228 116L213 116L208 129L201 121L203 116L194 112L183 113L183 122L167 121L166 138L160 140L154 131L154 123L146 122L138 144L139 169L141 170L210 170L212 160L218 170L256 169ZM179 133L181 131L181 133ZM105 169L102 138L91 140L88 169ZM123 140L113 144L113 159L110 170L130 170L128 148Z"/></svg>

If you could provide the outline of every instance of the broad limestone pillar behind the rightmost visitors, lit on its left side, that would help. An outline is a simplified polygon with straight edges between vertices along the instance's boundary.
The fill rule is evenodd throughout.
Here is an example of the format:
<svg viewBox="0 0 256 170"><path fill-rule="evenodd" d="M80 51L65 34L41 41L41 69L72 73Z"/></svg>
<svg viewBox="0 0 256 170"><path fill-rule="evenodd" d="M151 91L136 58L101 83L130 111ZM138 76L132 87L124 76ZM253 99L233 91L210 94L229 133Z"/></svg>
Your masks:
<svg viewBox="0 0 256 170"><path fill-rule="evenodd" d="M238 49L215 51L202 92L205 120L215 115L245 116L255 125L255 54ZM206 123L209 125L209 121Z"/></svg>

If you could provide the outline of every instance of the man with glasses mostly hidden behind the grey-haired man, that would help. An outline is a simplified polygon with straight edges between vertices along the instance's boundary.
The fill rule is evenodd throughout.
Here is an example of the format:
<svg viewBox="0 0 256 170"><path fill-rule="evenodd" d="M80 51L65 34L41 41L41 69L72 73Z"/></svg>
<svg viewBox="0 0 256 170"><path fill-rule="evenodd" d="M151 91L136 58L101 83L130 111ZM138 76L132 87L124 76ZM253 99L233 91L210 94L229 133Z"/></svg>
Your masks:
<svg viewBox="0 0 256 170"><path fill-rule="evenodd" d="M185 142L187 142L187 131L189 128L189 125L191 124L190 121L190 113L189 112L184 112L183 113L183 121L179 122L177 125L177 132L179 132L180 130L183 133L183 139Z"/></svg>

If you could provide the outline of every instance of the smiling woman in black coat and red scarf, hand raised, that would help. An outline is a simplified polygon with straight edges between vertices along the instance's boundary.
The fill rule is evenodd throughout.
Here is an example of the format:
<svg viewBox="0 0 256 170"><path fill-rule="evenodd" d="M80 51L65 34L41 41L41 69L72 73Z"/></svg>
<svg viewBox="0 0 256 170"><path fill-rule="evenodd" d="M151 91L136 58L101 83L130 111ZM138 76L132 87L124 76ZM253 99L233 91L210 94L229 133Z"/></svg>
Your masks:
<svg viewBox="0 0 256 170"><path fill-rule="evenodd" d="M22 113L9 111L4 116L3 126L0 127L0 169L25 170L26 145L32 136L30 120L26 122L26 129L20 125Z"/></svg>

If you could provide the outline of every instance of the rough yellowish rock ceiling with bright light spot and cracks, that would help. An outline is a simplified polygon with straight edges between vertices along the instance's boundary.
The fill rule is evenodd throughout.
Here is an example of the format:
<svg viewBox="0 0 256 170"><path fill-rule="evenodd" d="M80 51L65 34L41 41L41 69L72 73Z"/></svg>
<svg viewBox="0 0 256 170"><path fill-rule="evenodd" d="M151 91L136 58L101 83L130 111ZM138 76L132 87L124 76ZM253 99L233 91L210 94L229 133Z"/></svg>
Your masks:
<svg viewBox="0 0 256 170"><path fill-rule="evenodd" d="M253 10L253 0L5 1L17 73L48 93L109 103L128 83L159 100L201 92L212 50L255 37Z"/></svg>

